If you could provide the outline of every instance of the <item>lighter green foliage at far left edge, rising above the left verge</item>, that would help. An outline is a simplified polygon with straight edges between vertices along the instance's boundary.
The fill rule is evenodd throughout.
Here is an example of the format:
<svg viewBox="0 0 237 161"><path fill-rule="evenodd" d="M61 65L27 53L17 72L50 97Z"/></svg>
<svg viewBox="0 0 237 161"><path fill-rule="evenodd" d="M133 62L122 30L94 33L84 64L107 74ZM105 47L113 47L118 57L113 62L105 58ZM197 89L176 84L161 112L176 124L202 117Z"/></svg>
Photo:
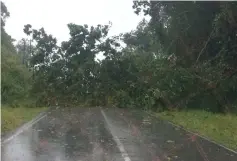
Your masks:
<svg viewBox="0 0 237 161"><path fill-rule="evenodd" d="M9 16L6 6L1 2L2 20ZM1 95L2 104L18 107L19 102L29 97L31 88L29 70L21 63L13 45L13 40L1 26Z"/></svg>

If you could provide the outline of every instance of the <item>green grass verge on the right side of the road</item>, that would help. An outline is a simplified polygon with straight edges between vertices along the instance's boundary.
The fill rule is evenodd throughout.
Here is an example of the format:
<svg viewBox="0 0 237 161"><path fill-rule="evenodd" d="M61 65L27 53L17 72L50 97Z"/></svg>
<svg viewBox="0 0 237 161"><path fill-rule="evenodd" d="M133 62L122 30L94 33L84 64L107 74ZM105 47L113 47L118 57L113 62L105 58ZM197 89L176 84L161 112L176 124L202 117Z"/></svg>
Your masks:
<svg viewBox="0 0 237 161"><path fill-rule="evenodd" d="M237 151L237 115L194 110L166 111L157 116Z"/></svg>

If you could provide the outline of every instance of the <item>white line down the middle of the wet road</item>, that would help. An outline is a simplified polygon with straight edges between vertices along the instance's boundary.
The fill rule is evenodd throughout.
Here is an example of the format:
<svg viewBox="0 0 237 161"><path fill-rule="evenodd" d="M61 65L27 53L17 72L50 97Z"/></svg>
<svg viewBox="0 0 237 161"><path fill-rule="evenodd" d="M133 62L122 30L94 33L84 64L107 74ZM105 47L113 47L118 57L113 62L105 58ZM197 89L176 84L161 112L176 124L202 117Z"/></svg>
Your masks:
<svg viewBox="0 0 237 161"><path fill-rule="evenodd" d="M102 115L104 116L104 119L105 119L105 122L107 123L108 127L109 127L109 130L113 136L113 139L114 141L116 142L121 154L122 154L122 157L124 159L124 161L131 161L131 159L129 158L128 156L128 153L126 152L126 150L124 149L124 146L123 144L120 142L119 138L115 135L114 131L112 130L112 125L110 124L107 116L105 115L104 111L101 109L101 113Z"/></svg>

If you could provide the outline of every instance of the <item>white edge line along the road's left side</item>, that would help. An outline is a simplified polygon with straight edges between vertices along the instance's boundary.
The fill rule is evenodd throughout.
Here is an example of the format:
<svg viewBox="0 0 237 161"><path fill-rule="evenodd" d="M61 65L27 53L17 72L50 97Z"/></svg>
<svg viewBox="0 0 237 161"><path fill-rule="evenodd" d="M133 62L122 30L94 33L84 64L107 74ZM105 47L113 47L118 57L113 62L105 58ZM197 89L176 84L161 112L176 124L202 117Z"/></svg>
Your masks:
<svg viewBox="0 0 237 161"><path fill-rule="evenodd" d="M34 125L35 123L37 123L39 120L41 120L42 118L44 118L45 116L47 116L47 114L44 114L43 116L32 120L28 123L26 123L25 125L23 125L23 127L21 127L20 129L18 129L13 135L9 136L8 138L3 140L3 144L7 143L8 141L14 139L16 136L18 136L19 134L21 134L24 130L28 129L29 127L31 127L32 125Z"/></svg>

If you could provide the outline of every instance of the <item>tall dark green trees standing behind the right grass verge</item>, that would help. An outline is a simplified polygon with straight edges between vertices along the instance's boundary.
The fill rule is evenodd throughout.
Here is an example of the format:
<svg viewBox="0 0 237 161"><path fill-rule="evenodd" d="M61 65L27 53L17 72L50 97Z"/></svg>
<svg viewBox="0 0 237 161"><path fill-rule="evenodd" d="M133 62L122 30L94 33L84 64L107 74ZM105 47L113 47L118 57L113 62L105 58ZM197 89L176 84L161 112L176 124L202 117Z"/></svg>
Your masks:
<svg viewBox="0 0 237 161"><path fill-rule="evenodd" d="M170 55L158 89L165 87L171 107L236 110L235 3L136 1L133 8L151 17L153 40Z"/></svg>

